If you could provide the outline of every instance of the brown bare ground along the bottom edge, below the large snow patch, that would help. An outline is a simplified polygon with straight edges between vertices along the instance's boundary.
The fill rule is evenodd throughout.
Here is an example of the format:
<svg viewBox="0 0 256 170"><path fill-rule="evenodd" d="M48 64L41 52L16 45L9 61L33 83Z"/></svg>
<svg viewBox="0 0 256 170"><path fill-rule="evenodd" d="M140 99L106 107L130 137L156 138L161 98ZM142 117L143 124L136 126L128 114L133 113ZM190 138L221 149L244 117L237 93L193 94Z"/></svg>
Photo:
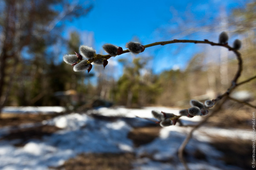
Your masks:
<svg viewBox="0 0 256 170"><path fill-rule="evenodd" d="M90 153L77 155L61 166L49 168L66 170L130 170L133 168L132 162L134 160L135 155L132 153Z"/></svg>

